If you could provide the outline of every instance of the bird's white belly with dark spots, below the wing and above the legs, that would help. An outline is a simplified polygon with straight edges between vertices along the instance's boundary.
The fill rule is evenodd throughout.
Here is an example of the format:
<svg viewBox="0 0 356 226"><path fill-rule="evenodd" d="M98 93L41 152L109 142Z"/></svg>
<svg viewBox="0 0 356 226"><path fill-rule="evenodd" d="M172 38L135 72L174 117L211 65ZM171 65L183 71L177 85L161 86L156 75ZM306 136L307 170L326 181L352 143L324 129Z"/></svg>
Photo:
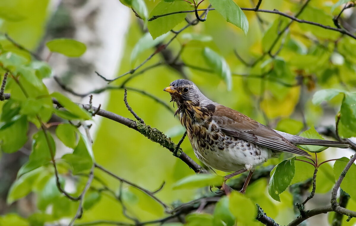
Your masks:
<svg viewBox="0 0 356 226"><path fill-rule="evenodd" d="M214 138L218 137L216 140ZM271 149L221 132L208 132L206 137L189 136L195 156L205 165L225 172L245 168L254 170L272 157Z"/></svg>

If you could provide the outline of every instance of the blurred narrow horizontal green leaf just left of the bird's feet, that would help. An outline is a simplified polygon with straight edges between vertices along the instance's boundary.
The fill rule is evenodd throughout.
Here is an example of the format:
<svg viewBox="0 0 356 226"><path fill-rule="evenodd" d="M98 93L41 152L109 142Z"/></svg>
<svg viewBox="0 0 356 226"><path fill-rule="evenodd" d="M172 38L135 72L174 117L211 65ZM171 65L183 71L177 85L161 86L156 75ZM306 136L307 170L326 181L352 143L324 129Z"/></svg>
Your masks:
<svg viewBox="0 0 356 226"><path fill-rule="evenodd" d="M212 174L194 174L177 181L173 189L201 188L209 185L221 185L224 178Z"/></svg>

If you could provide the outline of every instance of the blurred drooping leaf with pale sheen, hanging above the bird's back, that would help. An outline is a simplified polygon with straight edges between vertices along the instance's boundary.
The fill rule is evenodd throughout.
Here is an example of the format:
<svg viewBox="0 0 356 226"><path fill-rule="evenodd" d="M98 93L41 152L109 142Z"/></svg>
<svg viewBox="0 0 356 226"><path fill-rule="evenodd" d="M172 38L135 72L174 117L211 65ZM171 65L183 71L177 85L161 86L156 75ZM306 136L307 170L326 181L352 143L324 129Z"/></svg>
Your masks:
<svg viewBox="0 0 356 226"><path fill-rule="evenodd" d="M225 59L208 47L204 48L203 56L211 69L213 69L216 74L224 79L227 85L227 90L231 90L231 71Z"/></svg>

